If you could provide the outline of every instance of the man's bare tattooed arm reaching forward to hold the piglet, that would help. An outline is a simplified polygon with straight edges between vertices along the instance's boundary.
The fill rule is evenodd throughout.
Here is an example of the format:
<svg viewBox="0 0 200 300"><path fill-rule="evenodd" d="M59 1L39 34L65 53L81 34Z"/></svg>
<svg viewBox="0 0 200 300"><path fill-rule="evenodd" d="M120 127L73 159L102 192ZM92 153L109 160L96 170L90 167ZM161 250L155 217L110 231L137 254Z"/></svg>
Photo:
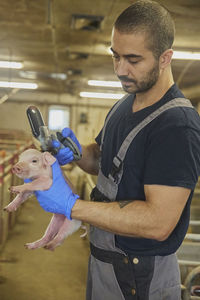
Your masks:
<svg viewBox="0 0 200 300"><path fill-rule="evenodd" d="M71 217L103 230L130 237L168 238L190 195L182 187L145 185L146 201L99 203L77 200Z"/></svg>

